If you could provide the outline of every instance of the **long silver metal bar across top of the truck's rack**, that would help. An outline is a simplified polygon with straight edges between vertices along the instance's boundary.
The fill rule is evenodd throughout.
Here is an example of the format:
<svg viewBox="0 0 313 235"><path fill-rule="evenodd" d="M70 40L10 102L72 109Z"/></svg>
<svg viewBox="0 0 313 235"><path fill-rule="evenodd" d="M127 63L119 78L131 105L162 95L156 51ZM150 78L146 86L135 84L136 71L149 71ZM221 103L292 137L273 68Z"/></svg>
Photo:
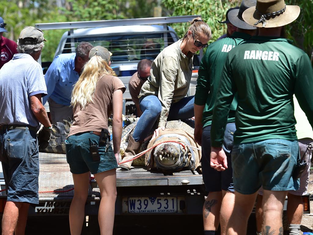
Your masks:
<svg viewBox="0 0 313 235"><path fill-rule="evenodd" d="M35 24L38 29L79 29L92 27L109 27L136 24L171 24L191 21L199 15L189 16L170 16L170 17L152 17L136 19L118 19L118 20L96 20L96 21L76 21L76 22L59 22L59 23L40 23Z"/></svg>

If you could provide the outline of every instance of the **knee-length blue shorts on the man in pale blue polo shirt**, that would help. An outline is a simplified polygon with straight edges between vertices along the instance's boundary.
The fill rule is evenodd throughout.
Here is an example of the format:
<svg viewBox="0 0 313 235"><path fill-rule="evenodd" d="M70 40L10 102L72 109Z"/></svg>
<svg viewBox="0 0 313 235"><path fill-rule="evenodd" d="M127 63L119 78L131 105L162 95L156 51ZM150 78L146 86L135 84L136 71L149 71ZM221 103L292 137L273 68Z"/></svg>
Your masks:
<svg viewBox="0 0 313 235"><path fill-rule="evenodd" d="M34 131L0 130L0 160L7 201L38 204L39 151Z"/></svg>

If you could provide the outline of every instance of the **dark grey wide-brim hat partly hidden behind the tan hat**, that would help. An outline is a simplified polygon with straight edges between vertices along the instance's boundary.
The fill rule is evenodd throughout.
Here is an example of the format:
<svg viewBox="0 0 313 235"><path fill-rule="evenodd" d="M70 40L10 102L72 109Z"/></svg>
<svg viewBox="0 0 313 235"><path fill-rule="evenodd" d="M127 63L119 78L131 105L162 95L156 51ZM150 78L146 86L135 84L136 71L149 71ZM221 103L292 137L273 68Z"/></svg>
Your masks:
<svg viewBox="0 0 313 235"><path fill-rule="evenodd" d="M229 22L239 29L256 29L255 26L252 26L244 22L244 19L242 18L242 13L244 13L244 11L247 10L248 8L253 7L255 5L256 0L243 0L240 4L239 9L233 9L230 12L228 12Z"/></svg>

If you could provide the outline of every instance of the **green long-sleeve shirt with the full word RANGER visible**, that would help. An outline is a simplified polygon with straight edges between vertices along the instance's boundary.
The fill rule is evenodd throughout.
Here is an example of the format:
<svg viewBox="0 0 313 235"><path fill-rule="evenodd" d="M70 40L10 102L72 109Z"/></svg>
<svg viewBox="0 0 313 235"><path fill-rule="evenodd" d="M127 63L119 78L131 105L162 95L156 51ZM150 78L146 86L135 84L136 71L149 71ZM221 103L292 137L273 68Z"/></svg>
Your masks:
<svg viewBox="0 0 313 235"><path fill-rule="evenodd" d="M313 70L291 41L254 36L228 53L218 88L211 145L223 143L230 103L238 92L234 144L296 140L293 94L313 126Z"/></svg>

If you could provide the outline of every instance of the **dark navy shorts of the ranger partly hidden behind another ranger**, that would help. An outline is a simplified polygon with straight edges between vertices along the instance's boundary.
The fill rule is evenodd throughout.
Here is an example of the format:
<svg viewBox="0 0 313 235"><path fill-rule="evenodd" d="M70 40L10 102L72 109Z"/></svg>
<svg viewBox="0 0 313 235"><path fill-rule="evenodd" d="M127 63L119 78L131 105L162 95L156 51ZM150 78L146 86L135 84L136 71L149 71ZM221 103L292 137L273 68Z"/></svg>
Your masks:
<svg viewBox="0 0 313 235"><path fill-rule="evenodd" d="M210 166L211 153L211 126L203 128L202 132L202 177L205 189L208 192L218 192L221 190L233 192L233 170L230 158L233 149L233 133L236 130L235 123L228 123L225 129L223 149L227 156L228 169L225 171L214 170Z"/></svg>

